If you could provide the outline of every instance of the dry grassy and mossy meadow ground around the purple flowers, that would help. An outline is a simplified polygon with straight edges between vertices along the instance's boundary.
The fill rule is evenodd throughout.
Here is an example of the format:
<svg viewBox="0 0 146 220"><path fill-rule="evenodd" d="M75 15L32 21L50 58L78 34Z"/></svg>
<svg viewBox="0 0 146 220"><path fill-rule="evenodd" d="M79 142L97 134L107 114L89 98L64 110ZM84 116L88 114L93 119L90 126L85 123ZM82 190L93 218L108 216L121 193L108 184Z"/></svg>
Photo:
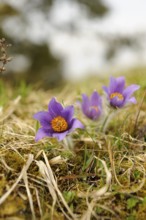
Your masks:
<svg viewBox="0 0 146 220"><path fill-rule="evenodd" d="M102 93L107 77L53 91L0 82L0 219L145 219L146 69L124 74L127 85L141 86L138 103L117 111L106 129L102 118L85 118L76 100ZM72 150L55 139L34 141L33 114L47 110L53 96L75 104L86 125L72 134Z"/></svg>

